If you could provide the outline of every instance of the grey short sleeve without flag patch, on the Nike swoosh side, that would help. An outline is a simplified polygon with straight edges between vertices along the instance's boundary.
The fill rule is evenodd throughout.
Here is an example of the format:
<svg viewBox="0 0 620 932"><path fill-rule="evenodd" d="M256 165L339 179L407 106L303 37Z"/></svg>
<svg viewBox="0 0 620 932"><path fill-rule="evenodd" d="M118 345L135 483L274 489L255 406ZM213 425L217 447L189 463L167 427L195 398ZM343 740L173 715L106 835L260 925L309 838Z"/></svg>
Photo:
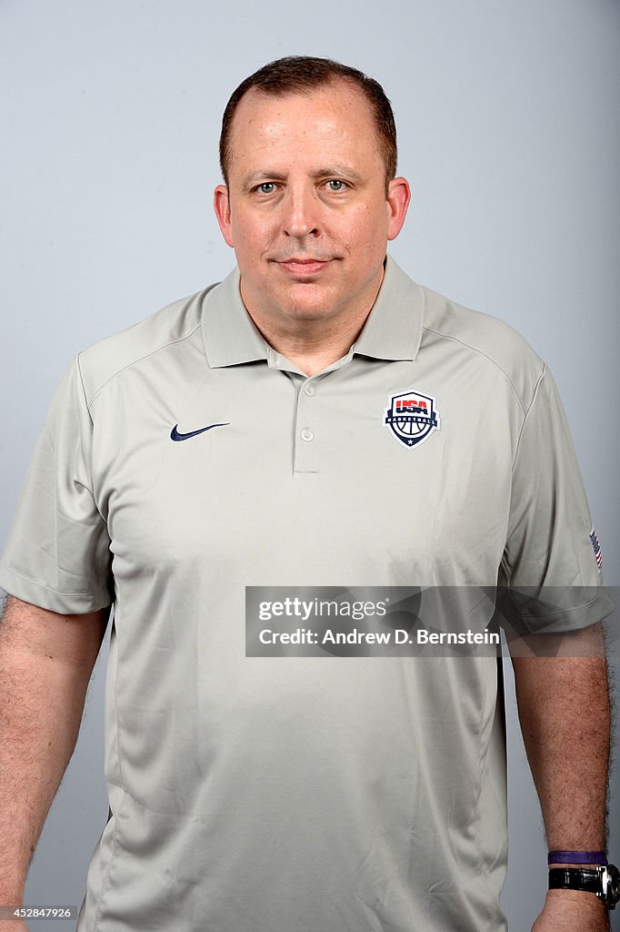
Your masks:
<svg viewBox="0 0 620 932"><path fill-rule="evenodd" d="M0 561L0 586L10 595L62 614L114 600L108 528L93 494L92 432L76 357L47 412Z"/></svg>

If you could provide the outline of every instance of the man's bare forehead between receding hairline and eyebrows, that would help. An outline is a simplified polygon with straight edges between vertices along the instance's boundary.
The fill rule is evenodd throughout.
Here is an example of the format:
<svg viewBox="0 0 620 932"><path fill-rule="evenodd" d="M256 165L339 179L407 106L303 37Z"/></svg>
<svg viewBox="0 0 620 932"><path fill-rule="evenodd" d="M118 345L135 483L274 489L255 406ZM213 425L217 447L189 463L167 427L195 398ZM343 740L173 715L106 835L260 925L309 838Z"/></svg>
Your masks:
<svg viewBox="0 0 620 932"><path fill-rule="evenodd" d="M371 104L346 81L281 96L249 90L233 118L230 154L231 168L319 154L381 161Z"/></svg>

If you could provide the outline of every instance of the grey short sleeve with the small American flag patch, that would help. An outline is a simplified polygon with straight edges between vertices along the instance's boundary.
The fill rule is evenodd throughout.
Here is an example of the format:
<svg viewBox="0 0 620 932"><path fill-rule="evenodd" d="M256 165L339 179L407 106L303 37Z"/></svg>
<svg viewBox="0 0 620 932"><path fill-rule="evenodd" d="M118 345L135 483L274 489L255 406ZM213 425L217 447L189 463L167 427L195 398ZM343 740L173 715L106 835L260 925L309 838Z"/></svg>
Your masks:
<svg viewBox="0 0 620 932"><path fill-rule="evenodd" d="M544 369L519 436L500 583L530 631L569 631L613 612L573 440Z"/></svg>

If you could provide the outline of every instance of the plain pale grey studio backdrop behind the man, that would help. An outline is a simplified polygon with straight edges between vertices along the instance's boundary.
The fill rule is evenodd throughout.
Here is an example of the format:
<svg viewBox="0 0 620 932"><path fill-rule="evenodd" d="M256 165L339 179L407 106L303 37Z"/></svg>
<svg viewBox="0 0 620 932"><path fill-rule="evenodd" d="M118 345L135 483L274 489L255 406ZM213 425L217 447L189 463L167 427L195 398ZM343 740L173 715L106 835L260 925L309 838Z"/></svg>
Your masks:
<svg viewBox="0 0 620 932"><path fill-rule="evenodd" d="M75 351L232 267L210 208L229 93L273 58L329 55L376 76L395 107L413 191L398 263L512 323L550 364L620 583L619 27L617 0L3 0L0 540ZM32 904L79 904L107 816L103 670L101 657ZM510 693L507 715L504 901L520 932L544 897L546 848ZM617 858L617 768L612 803Z"/></svg>

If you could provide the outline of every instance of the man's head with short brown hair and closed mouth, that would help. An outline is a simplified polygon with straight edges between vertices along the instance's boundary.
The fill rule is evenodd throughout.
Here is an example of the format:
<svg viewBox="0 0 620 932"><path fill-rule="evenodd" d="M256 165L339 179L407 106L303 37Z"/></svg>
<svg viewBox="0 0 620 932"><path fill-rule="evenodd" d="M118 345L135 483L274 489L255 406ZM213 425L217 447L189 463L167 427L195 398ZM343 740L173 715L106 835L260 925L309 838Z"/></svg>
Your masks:
<svg viewBox="0 0 620 932"><path fill-rule="evenodd" d="M396 133L386 156L376 107L351 69L287 59L281 67L290 82L292 62L300 63L298 83L305 75L302 89L278 84L274 62L263 69L272 89L244 82L231 98L222 132L226 185L214 197L241 295L265 336L361 326L381 286L387 240L398 236L410 199L405 179L393 177ZM344 76L333 76L334 68Z"/></svg>

